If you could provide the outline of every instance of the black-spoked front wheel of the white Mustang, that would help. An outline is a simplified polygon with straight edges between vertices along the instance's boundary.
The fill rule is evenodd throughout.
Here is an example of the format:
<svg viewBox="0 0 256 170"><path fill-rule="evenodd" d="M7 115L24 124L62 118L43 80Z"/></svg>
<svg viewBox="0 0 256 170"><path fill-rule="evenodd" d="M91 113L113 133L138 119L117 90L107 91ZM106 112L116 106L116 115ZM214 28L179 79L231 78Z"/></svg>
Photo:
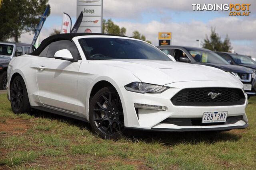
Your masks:
<svg viewBox="0 0 256 170"><path fill-rule="evenodd" d="M117 139L124 131L124 113L116 89L99 90L89 105L90 125L103 139Z"/></svg>

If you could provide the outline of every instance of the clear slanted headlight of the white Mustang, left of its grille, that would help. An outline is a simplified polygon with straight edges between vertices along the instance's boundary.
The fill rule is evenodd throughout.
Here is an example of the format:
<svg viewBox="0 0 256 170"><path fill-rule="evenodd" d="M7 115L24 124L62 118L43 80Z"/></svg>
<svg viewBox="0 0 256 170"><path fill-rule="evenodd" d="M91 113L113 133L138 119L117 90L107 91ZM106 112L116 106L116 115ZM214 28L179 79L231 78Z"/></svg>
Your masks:
<svg viewBox="0 0 256 170"><path fill-rule="evenodd" d="M124 86L124 88L128 91L137 93L162 93L170 87L142 82L132 82Z"/></svg>

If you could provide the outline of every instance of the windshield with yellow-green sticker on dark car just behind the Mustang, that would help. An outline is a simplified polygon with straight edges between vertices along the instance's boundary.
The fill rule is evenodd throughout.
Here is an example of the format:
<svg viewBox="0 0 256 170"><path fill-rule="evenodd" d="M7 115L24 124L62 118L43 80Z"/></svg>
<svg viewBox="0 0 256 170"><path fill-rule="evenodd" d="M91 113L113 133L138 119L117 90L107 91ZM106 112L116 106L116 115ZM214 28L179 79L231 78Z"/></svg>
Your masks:
<svg viewBox="0 0 256 170"><path fill-rule="evenodd" d="M230 64L212 51L188 50L190 55L200 63Z"/></svg>

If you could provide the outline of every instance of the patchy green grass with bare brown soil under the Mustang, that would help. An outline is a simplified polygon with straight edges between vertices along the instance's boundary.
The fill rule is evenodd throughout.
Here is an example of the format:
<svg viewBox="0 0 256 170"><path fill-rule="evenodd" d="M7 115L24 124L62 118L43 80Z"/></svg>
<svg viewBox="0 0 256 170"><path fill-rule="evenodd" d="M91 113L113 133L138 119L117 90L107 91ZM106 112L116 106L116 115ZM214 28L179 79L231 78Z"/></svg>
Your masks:
<svg viewBox="0 0 256 170"><path fill-rule="evenodd" d="M222 133L131 131L117 141L87 123L41 111L15 115L0 95L0 169L255 169L256 98L250 127Z"/></svg>

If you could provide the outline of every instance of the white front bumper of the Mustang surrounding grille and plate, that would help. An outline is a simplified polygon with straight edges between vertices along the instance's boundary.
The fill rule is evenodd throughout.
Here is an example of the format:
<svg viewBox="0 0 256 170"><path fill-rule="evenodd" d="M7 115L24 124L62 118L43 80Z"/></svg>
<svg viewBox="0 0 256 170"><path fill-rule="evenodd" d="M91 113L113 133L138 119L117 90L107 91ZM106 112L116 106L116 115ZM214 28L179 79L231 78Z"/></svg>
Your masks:
<svg viewBox="0 0 256 170"><path fill-rule="evenodd" d="M124 122L128 128L160 131L213 131L248 127L245 108L248 103L237 106L174 106L170 99L183 88L230 87L242 88L241 84L219 81L193 81L167 84L171 88L161 94L140 94L129 92L124 87L118 89L124 110ZM246 96L246 94L245 94ZM165 106L165 111L135 109L134 104ZM163 123L167 118L202 118L204 112L228 111L228 117L241 116L242 119L232 124L186 125L180 126Z"/></svg>

